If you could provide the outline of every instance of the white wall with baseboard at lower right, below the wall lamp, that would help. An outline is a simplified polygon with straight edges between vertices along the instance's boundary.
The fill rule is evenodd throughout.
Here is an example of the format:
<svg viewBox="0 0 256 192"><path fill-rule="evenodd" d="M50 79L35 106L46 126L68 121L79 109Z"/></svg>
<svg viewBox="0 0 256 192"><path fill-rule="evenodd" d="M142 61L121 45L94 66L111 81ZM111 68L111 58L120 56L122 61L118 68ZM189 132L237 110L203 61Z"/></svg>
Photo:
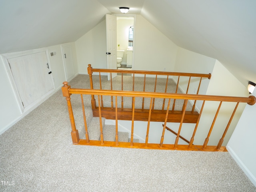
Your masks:
<svg viewBox="0 0 256 192"><path fill-rule="evenodd" d="M256 96L256 92L252 94ZM255 128L256 104L246 105L244 112L228 144L228 152L236 160L248 178L256 186L256 128Z"/></svg>

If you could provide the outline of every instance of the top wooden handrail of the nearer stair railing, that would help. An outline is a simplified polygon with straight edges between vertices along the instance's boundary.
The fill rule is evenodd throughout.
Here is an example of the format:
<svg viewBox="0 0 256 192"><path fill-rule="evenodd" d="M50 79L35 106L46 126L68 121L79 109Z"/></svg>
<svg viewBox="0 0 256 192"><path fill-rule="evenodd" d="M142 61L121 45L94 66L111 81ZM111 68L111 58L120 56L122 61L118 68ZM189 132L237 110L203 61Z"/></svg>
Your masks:
<svg viewBox="0 0 256 192"><path fill-rule="evenodd" d="M67 85L68 82L64 82ZM146 98L170 98L185 100L205 100L205 101L223 101L223 102L240 102L254 105L255 96L249 97L233 97L233 96L216 96L216 95L196 95L196 94L180 94L180 93L160 93L160 92L140 92L140 91L122 91L122 90L99 90L99 89L78 89L70 88L70 94L90 94L90 95L115 95L127 97L146 97Z"/></svg>

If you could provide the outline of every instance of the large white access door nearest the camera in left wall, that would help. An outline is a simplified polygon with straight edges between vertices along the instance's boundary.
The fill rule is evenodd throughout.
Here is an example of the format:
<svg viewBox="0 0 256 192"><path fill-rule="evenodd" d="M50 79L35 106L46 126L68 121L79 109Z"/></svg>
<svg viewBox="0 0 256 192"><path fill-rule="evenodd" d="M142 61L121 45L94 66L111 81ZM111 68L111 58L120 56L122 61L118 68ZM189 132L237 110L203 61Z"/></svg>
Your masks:
<svg viewBox="0 0 256 192"><path fill-rule="evenodd" d="M9 58L8 62L23 108L54 89L46 52Z"/></svg>

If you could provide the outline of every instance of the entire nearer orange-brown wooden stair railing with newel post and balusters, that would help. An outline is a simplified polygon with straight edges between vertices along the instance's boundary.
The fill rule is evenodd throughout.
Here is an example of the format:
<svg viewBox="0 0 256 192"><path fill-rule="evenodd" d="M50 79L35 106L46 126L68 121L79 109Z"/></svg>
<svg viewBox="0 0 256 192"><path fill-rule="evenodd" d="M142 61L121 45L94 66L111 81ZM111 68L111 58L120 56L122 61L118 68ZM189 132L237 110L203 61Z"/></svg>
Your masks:
<svg viewBox="0 0 256 192"><path fill-rule="evenodd" d="M158 93L158 92L138 92L138 91L117 91L117 90L93 90L93 89L78 89L78 88L70 88L68 85L68 82L63 83L64 86L62 86L62 93L63 96L66 97L67 100L67 105L68 105L68 112L69 112L69 117L70 117L70 123L71 123L71 136L72 136L72 141L73 144L80 144L80 145L94 145L94 146L112 146L112 147L124 147L124 148L146 148L146 149L168 149L168 150L201 150L201 151L226 151L226 147L221 146L222 142L224 140L224 137L226 135L226 132L229 128L229 125L232 121L232 118L234 116L234 113L236 112L236 108L240 102L245 102L250 105L255 104L256 98L254 96L249 96L248 98L246 97L231 97L231 96L210 96L210 95L193 95L193 94L170 94L170 93ZM89 140L90 138L90 133L88 133L87 130L87 124L86 124L86 116L84 112L84 107L82 107L83 110L83 116L84 116L84 127L85 127L85 132L86 132L86 139L80 139L78 130L76 129L76 124L74 120L74 114L72 111L72 105L70 101L70 96L71 94L80 94L81 98L83 94L88 94L88 95L97 95L98 96L98 102L100 104L100 96L115 96L116 98L116 104L115 104L115 120L116 120L116 141L110 142L110 141L104 141L104 135L102 132L102 122L101 122L101 106L98 107L98 112L99 112L99 117L100 117L100 141L98 140ZM130 142L118 142L118 120L119 120L119 112L117 110L117 100L118 96L126 96L126 97L132 97L132 128L131 128L131 141ZM148 113L148 126L147 126L147 133L146 133L146 142L145 143L134 143L133 142L133 133L134 133L134 120L135 120L135 102L137 97L145 97L145 98L150 98L150 109ZM162 98L162 99L168 99L168 108L166 110L166 116L164 120L164 127L163 127L163 132L161 136L161 141L160 144L152 144L148 143L148 132L149 132L149 125L151 122L152 118L152 108L153 108L153 98ZM194 128L194 132L192 134L191 140L188 145L179 145L178 140L180 138L180 131L182 128L182 123L184 122L184 116L185 116L185 110L182 112L182 118L180 119L180 127L177 133L176 140L174 144L164 144L164 131L166 129L166 122L168 118L168 112L171 111L169 110L170 107L170 100L171 99L184 99L185 100L185 106L188 102L188 100L203 100L203 105L200 110L199 118L196 121L196 126ZM228 125L226 126L226 129L224 130L224 133L222 135L222 138L220 138L219 143L216 146L207 146L207 142L209 140L211 131L214 127L214 123L216 120L216 116L218 115L219 108L216 112L216 116L212 122L212 126L210 127L209 134L204 142L204 145L193 145L194 142L194 136L196 134L196 129L198 127L198 123L200 121L200 116L202 114L202 110L204 108L204 103L206 101L216 101L220 102L220 106L222 102L236 102L236 107L230 117L230 120L228 122ZM81 99L82 106L84 106L84 101ZM97 128L97 127L95 127Z"/></svg>

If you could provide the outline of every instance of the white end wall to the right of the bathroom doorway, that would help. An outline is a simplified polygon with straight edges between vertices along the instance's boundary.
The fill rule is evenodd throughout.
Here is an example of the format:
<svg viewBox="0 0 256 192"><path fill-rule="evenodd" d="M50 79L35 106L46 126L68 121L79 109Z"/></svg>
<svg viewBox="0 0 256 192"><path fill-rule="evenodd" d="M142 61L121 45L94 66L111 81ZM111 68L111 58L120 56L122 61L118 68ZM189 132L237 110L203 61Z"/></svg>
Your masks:
<svg viewBox="0 0 256 192"><path fill-rule="evenodd" d="M136 15L134 70L173 71L178 47L141 15Z"/></svg>

